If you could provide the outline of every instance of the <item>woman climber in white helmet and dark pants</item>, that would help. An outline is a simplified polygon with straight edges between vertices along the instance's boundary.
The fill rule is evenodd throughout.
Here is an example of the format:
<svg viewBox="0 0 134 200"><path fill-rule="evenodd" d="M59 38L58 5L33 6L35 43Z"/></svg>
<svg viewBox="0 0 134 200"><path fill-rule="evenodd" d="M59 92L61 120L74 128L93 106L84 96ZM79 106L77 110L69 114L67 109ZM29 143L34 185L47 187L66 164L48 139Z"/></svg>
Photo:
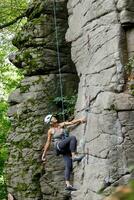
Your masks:
<svg viewBox="0 0 134 200"><path fill-rule="evenodd" d="M43 149L42 161L46 161L47 151L50 147L51 140L54 143L54 148L57 155L62 154L65 163L65 182L66 190L77 190L70 184L70 174L72 171L72 162L81 161L84 156L76 155L77 140L75 136L67 136L64 127L70 125L78 125L85 123L85 119L74 119L70 122L58 123L57 119L53 115L47 115L44 122L50 125L48 130L47 142Z"/></svg>

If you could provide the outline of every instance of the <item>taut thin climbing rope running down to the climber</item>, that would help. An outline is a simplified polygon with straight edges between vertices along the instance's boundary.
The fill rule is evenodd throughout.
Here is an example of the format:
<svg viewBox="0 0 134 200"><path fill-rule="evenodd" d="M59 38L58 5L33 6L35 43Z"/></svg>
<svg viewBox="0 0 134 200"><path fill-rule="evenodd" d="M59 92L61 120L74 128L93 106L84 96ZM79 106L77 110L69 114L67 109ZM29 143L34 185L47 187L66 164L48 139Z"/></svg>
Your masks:
<svg viewBox="0 0 134 200"><path fill-rule="evenodd" d="M65 121L64 102L63 102L63 84L62 84L62 75L61 75L61 61L60 61L60 50L59 50L59 40L58 40L58 28L57 28L57 16L56 16L56 1L55 0L53 0L53 13L54 13L57 63L58 63L59 79L60 79L60 95L61 95L61 102L62 102L62 118L63 118L63 121Z"/></svg>

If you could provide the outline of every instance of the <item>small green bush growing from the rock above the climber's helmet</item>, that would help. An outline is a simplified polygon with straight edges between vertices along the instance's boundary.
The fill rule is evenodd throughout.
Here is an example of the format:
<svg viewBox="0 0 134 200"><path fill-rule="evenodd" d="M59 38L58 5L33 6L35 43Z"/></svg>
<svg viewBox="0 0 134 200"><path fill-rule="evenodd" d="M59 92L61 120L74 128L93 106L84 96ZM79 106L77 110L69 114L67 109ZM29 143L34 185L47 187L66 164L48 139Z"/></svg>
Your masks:
<svg viewBox="0 0 134 200"><path fill-rule="evenodd" d="M74 108L75 103L77 100L77 95L74 94L72 96L63 96L62 97L56 97L52 103L55 103L57 105L57 111L54 113L59 119L62 119L63 115L65 116L65 119L70 119L74 117ZM62 110L62 101L64 104L64 110Z"/></svg>

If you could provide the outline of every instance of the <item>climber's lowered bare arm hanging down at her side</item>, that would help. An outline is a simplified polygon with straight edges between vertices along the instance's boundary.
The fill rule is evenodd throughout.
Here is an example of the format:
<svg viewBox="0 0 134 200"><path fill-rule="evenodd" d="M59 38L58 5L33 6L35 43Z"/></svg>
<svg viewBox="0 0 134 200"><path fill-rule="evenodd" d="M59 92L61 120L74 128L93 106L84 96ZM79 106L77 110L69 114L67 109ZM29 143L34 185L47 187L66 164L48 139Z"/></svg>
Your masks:
<svg viewBox="0 0 134 200"><path fill-rule="evenodd" d="M50 147L50 144L51 144L51 138L52 138L52 133L51 133L51 130L49 129L48 130L48 133L47 133L47 141L46 141L46 144L43 148L43 154L42 154L42 161L45 161L46 160L46 155L47 155L47 151Z"/></svg>

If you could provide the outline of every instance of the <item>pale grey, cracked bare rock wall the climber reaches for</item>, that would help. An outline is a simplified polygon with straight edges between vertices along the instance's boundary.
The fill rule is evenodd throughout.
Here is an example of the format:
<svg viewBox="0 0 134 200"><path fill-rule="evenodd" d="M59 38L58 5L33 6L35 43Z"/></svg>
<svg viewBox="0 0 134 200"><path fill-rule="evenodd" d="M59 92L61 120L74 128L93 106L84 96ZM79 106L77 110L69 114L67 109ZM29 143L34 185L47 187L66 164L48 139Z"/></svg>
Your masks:
<svg viewBox="0 0 134 200"><path fill-rule="evenodd" d="M83 162L75 166L73 200L101 200L132 177L134 98L124 65L134 55L133 0L69 0L72 59L80 77L76 115ZM104 193L99 194L99 191Z"/></svg>

